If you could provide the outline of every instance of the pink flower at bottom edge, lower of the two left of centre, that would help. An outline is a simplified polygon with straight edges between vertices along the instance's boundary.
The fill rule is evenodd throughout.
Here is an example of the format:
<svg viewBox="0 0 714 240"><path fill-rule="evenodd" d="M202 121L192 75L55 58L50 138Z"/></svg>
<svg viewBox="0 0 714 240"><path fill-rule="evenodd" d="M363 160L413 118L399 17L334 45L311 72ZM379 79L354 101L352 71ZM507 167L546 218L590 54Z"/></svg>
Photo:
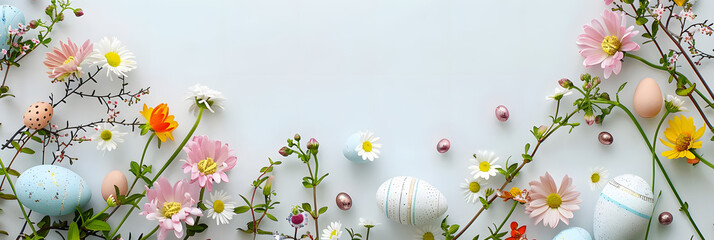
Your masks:
<svg viewBox="0 0 714 240"><path fill-rule="evenodd" d="M144 204L144 211L148 220L159 221L158 239L166 238L168 231L174 231L177 238L183 237L182 222L193 225L192 216L202 216L201 209L195 206L198 197L198 187L182 180L171 186L169 180L161 177L149 189L146 187L146 197L149 202Z"/></svg>

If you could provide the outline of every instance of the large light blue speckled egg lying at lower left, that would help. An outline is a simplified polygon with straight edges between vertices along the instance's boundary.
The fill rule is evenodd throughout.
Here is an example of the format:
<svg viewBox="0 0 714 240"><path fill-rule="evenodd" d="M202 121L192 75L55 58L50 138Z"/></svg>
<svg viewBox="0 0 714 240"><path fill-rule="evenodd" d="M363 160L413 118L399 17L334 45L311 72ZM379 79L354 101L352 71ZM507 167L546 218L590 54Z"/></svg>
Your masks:
<svg viewBox="0 0 714 240"><path fill-rule="evenodd" d="M17 199L32 211L61 216L73 213L92 198L87 182L69 169L39 165L27 169L15 183Z"/></svg>

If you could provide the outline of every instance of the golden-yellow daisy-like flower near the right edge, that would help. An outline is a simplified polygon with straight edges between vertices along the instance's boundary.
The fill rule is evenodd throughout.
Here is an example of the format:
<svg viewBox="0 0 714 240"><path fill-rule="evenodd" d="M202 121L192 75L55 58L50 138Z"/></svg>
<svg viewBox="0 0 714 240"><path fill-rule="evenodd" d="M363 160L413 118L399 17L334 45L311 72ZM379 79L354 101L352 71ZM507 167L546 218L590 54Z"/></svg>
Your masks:
<svg viewBox="0 0 714 240"><path fill-rule="evenodd" d="M672 150L662 152L662 156L669 159L695 158L689 149L702 147L702 141L697 141L697 139L704 135L704 127L697 130L696 126L694 126L694 119L692 117L686 118L684 115L674 117L668 123L669 127L664 131L667 141L661 138L659 140L665 146L672 148Z"/></svg>

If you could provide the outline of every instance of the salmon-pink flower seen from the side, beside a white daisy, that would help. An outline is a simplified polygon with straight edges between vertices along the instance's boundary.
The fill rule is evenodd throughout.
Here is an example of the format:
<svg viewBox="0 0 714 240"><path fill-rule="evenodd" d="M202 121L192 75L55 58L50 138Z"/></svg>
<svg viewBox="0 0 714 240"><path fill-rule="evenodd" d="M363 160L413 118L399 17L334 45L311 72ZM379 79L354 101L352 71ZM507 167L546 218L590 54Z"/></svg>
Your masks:
<svg viewBox="0 0 714 240"><path fill-rule="evenodd" d="M50 71L49 77L55 81L63 82L69 76L78 77L82 75L82 68L79 66L84 58L92 53L93 44L89 40L77 47L72 40L67 39L67 43L60 41L61 48L53 48L52 52L47 52L47 60L44 62Z"/></svg>

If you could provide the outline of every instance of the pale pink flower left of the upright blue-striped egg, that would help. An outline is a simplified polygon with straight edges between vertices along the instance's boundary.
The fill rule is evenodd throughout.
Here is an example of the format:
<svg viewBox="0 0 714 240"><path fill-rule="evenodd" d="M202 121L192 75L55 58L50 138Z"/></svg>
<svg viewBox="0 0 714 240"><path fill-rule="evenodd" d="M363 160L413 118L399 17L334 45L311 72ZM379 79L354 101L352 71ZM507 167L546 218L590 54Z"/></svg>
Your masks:
<svg viewBox="0 0 714 240"><path fill-rule="evenodd" d="M558 189L548 172L540 177L540 182L531 181L531 200L526 203L526 214L535 218L535 224L543 221L545 226L551 228L558 226L560 221L569 224L568 219L573 218L573 211L580 209L578 204L582 202L578 199L580 192L575 191L572 182L573 179L565 175Z"/></svg>

